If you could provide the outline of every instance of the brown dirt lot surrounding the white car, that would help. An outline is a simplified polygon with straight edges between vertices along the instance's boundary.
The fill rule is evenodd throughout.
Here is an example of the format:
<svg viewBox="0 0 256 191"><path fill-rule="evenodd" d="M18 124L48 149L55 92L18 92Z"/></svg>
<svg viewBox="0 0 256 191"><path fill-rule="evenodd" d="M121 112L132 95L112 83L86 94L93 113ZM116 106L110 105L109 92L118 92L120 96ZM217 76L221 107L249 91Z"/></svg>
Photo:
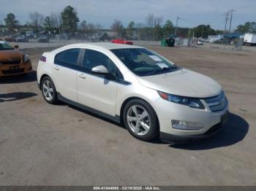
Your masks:
<svg viewBox="0 0 256 191"><path fill-rule="evenodd" d="M36 73L0 79L1 185L255 185L256 54L213 48L150 47L206 74L230 101L225 130L171 146L138 141L118 124L46 104ZM37 69L46 49L25 50Z"/></svg>

